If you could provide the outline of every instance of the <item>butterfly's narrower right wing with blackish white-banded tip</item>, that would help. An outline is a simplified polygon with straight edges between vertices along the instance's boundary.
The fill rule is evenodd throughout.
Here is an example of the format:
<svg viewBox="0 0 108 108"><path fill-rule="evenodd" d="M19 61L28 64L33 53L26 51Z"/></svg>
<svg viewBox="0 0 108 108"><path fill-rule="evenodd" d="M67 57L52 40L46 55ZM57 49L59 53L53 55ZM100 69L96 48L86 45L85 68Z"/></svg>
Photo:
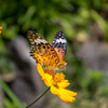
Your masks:
<svg viewBox="0 0 108 108"><path fill-rule="evenodd" d="M66 55L66 50L67 50L67 40L66 40L63 31L58 31L55 35L52 46L55 49L55 51L59 57L59 60L64 60L65 55Z"/></svg>

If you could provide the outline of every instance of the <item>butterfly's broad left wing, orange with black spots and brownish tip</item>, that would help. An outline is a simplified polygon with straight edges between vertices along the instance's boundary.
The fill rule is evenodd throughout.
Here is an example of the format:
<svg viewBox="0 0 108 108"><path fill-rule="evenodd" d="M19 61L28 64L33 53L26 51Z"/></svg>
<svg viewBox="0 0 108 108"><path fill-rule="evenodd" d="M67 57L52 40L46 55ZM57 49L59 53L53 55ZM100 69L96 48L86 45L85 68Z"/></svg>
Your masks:
<svg viewBox="0 0 108 108"><path fill-rule="evenodd" d="M27 36L31 43L30 55L41 64L43 68L56 68L59 59L54 48L36 31L29 30Z"/></svg>

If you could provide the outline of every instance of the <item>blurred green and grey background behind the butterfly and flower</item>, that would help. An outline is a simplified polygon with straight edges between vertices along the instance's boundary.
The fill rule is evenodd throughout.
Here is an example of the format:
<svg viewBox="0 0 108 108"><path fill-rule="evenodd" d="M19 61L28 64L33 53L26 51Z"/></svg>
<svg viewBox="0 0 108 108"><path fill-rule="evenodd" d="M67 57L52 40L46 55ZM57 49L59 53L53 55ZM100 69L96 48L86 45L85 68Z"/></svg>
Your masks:
<svg viewBox="0 0 108 108"><path fill-rule="evenodd" d="M25 108L46 86L29 56L27 31L67 39L72 104L50 92L31 108L108 108L108 0L0 0L0 108Z"/></svg>

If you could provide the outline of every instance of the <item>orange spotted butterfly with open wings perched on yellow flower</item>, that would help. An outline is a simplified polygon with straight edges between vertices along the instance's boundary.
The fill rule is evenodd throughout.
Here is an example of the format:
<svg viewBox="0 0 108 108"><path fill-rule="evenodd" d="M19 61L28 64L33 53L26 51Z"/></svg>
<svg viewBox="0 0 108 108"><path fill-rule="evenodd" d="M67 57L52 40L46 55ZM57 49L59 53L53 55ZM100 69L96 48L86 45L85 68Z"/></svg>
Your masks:
<svg viewBox="0 0 108 108"><path fill-rule="evenodd" d="M42 68L58 69L66 66L65 55L67 50L67 40L63 31L55 35L54 41L50 44L41 35L29 30L28 39L31 43L30 56L32 56Z"/></svg>

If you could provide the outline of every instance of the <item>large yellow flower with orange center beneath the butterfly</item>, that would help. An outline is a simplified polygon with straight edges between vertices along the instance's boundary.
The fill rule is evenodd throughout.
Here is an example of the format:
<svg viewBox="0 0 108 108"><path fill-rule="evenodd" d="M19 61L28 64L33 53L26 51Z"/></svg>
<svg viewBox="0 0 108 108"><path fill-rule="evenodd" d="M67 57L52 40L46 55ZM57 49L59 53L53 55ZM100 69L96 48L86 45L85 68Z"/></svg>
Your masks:
<svg viewBox="0 0 108 108"><path fill-rule="evenodd" d="M63 72L54 73L54 70L43 70L40 64L37 65L37 69L44 83L50 86L52 94L58 95L60 99L65 102L76 100L75 96L77 93L65 89L70 83L68 80L65 80L65 75Z"/></svg>

